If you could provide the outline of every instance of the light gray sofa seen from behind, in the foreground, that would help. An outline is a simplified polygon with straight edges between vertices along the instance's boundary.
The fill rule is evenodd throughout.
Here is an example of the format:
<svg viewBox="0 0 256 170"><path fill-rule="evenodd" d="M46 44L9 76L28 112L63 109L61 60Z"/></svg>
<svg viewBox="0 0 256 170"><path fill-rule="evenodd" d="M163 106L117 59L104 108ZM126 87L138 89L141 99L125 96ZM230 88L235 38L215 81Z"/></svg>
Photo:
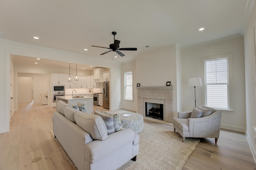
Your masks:
<svg viewBox="0 0 256 170"><path fill-rule="evenodd" d="M56 103L52 121L55 137L78 170L115 170L136 160L139 153L139 135L134 131L124 129L107 135L99 115L77 111L62 101Z"/></svg>

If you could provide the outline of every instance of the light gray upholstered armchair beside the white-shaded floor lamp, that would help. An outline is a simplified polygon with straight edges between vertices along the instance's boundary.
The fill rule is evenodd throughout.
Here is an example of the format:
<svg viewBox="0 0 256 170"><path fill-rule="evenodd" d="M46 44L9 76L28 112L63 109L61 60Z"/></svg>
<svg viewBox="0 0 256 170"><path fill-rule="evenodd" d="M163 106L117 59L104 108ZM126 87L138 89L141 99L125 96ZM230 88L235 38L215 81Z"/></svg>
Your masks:
<svg viewBox="0 0 256 170"><path fill-rule="evenodd" d="M199 108L200 106L198 106ZM185 141L185 137L195 137L195 138L215 138L215 143L217 143L220 135L220 120L221 120L221 110L217 110L211 107L202 106L201 116L198 118L190 118L192 111L178 112L178 118L174 117L173 127L182 136L182 141ZM209 109L212 113L208 115L205 112ZM193 109L194 111L194 109Z"/></svg>

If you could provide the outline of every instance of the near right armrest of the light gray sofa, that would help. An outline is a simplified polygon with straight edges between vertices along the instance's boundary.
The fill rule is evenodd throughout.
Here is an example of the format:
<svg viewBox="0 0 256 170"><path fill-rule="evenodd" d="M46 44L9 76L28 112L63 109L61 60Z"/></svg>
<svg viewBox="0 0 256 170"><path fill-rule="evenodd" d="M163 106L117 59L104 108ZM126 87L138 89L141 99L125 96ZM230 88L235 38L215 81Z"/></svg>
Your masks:
<svg viewBox="0 0 256 170"><path fill-rule="evenodd" d="M126 145L133 145L134 139L135 133L132 129L123 129L108 135L108 138L104 141L92 141L84 146L85 159L90 164L94 164Z"/></svg>

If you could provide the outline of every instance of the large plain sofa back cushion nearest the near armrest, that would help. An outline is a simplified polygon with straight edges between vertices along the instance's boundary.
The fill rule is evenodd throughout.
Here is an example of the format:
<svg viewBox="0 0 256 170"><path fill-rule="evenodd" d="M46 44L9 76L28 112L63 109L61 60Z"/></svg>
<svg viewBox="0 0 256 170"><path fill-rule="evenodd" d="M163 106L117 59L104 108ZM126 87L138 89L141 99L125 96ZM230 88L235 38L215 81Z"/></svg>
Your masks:
<svg viewBox="0 0 256 170"><path fill-rule="evenodd" d="M107 128L99 115L90 115L82 111L74 113L76 124L88 132L92 139L104 141L108 137Z"/></svg>

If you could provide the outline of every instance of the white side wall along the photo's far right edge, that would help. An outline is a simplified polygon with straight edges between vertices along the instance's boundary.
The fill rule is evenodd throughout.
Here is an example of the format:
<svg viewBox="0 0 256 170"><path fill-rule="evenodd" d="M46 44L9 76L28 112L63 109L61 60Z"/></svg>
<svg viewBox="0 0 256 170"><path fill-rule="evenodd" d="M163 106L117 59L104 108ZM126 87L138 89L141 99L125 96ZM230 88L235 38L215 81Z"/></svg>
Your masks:
<svg viewBox="0 0 256 170"><path fill-rule="evenodd" d="M256 126L256 91L255 91L255 28L256 4L252 9L246 31L244 33L244 60L245 60L245 87L246 87L246 135L252 148L252 154L256 159L256 144L254 140Z"/></svg>

